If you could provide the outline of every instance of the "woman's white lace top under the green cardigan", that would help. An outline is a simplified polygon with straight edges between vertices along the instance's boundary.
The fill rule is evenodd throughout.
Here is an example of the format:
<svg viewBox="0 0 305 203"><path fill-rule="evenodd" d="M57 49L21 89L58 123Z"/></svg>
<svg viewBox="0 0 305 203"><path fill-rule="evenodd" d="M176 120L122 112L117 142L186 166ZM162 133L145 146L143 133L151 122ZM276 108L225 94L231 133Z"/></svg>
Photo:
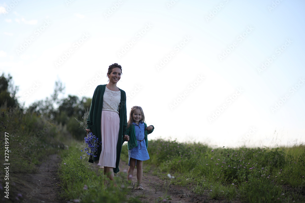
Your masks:
<svg viewBox="0 0 305 203"><path fill-rule="evenodd" d="M114 111L119 113L120 102L121 102L121 91L112 91L106 87L103 97L102 110Z"/></svg>

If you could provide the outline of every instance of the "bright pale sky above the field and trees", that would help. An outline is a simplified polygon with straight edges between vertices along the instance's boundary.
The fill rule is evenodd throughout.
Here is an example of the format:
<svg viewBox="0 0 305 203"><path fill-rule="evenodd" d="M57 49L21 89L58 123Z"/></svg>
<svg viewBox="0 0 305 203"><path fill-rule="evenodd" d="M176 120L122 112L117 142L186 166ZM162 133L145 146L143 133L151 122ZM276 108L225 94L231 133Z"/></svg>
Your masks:
<svg viewBox="0 0 305 203"><path fill-rule="evenodd" d="M149 139L299 144L304 10L300 0L1 0L1 74L27 107L58 79L65 96L92 97L118 63L127 114L143 108Z"/></svg>

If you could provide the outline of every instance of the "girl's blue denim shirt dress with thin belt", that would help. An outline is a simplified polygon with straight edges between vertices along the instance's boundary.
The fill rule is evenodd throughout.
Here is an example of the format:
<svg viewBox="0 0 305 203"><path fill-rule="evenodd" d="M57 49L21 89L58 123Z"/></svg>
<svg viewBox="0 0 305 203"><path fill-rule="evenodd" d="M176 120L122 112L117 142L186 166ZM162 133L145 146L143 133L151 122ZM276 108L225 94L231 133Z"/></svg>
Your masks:
<svg viewBox="0 0 305 203"><path fill-rule="evenodd" d="M137 139L138 146L128 150L128 166L130 166L130 158L137 159L139 161L145 161L149 159L144 139L145 125L142 121L139 124L134 122L132 122L132 124L135 125L135 137Z"/></svg>

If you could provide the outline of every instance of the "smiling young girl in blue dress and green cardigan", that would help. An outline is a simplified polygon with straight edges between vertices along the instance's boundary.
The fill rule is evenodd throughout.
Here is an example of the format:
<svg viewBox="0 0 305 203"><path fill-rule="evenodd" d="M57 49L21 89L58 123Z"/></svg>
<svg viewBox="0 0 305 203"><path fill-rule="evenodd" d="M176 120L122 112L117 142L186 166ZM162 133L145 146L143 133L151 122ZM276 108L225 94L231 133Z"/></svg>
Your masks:
<svg viewBox="0 0 305 203"><path fill-rule="evenodd" d="M143 122L144 121L144 122ZM128 141L128 172L127 179L132 180L132 175L137 166L137 179L138 190L143 190L142 186L142 164L143 161L149 159L147 147L147 134L152 133L154 127L148 126L145 123L144 113L141 107L134 106L131 108L129 114L129 121L127 123L127 135L129 135ZM132 187L129 186L129 188Z"/></svg>

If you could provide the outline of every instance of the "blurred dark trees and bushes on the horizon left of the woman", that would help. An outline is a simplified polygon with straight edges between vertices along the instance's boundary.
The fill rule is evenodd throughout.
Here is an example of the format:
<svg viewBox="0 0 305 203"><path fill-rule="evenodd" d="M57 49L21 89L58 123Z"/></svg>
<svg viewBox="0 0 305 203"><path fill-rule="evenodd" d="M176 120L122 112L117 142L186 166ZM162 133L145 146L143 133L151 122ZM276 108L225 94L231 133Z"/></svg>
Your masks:
<svg viewBox="0 0 305 203"><path fill-rule="evenodd" d="M7 108L9 111L13 108L20 109L23 114L36 114L49 122L62 126L70 133L70 135L78 140L84 139L85 131L79 128L77 120L81 120L85 113L85 109L90 109L91 98L79 98L76 95L68 95L66 98L59 98L63 94L65 87L62 82L56 81L52 95L45 99L35 101L29 107L24 107L18 100L16 93L18 86L14 86L13 77L4 73L0 76L0 106ZM76 119L75 119L76 118Z"/></svg>

